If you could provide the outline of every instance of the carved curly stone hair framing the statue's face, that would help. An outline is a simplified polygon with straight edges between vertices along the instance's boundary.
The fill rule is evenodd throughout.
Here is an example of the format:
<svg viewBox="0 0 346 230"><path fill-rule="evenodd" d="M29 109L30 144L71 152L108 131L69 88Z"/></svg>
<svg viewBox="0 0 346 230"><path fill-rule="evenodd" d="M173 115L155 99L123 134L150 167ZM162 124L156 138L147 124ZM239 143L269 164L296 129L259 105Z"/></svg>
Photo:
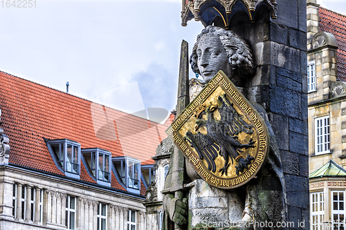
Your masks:
<svg viewBox="0 0 346 230"><path fill-rule="evenodd" d="M194 73L199 73L199 75L201 75L197 66L197 48L201 37L208 33L212 33L220 38L221 43L224 45L226 50L228 62L233 70L237 71L237 73L241 75L251 75L255 71L251 49L242 37L232 30L225 30L224 28L219 28L217 26L208 26L198 35L197 42L194 44L194 48L192 49L190 64Z"/></svg>

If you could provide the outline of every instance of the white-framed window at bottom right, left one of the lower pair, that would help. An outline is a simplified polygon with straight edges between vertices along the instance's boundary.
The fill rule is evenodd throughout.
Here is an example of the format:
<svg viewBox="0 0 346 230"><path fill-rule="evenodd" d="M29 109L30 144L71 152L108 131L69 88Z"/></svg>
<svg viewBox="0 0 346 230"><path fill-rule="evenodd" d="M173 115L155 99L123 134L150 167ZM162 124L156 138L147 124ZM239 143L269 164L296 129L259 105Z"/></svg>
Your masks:
<svg viewBox="0 0 346 230"><path fill-rule="evenodd" d="M322 230L324 219L324 193L310 193L311 229Z"/></svg>

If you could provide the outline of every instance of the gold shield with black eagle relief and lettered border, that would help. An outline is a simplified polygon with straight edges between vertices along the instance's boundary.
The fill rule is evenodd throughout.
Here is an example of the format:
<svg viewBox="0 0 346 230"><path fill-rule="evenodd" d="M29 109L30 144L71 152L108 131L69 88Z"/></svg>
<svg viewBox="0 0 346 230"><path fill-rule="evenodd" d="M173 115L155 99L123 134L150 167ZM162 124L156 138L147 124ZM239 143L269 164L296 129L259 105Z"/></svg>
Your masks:
<svg viewBox="0 0 346 230"><path fill-rule="evenodd" d="M167 129L208 184L232 189L255 177L266 160L266 124L220 70Z"/></svg>

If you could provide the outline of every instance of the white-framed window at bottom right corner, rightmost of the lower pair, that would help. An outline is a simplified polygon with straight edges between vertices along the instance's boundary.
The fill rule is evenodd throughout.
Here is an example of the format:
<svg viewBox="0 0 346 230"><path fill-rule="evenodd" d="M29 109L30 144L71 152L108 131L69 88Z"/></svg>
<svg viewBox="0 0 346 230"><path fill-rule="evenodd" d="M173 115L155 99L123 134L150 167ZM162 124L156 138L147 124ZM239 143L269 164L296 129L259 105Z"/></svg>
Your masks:
<svg viewBox="0 0 346 230"><path fill-rule="evenodd" d="M332 229L345 229L345 191L331 191Z"/></svg>

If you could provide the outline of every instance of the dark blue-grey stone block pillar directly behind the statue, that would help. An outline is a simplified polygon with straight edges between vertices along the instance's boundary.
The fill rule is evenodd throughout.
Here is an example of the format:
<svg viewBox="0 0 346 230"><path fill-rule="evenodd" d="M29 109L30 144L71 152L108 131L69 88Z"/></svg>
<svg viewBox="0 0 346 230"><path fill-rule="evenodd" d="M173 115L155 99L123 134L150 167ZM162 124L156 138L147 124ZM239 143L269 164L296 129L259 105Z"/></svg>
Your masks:
<svg viewBox="0 0 346 230"><path fill-rule="evenodd" d="M308 229L307 2L276 2L277 19L270 19L263 7L255 23L239 14L230 29L254 50L257 71L246 83L247 97L265 108L280 148L287 220L295 222L295 229L304 220Z"/></svg>

